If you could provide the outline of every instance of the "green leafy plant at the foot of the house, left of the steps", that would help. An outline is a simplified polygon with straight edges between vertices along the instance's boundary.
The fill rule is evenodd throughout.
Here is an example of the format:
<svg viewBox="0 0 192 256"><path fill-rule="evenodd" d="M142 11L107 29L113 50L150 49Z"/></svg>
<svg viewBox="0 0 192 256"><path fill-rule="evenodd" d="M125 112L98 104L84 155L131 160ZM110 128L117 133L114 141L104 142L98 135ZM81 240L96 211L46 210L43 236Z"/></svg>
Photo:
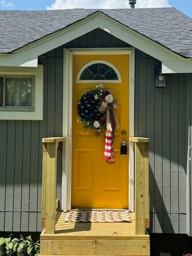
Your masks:
<svg viewBox="0 0 192 256"><path fill-rule="evenodd" d="M0 238L0 256L39 256L39 240L33 242L31 236L24 237L21 235L20 240L14 238Z"/></svg>

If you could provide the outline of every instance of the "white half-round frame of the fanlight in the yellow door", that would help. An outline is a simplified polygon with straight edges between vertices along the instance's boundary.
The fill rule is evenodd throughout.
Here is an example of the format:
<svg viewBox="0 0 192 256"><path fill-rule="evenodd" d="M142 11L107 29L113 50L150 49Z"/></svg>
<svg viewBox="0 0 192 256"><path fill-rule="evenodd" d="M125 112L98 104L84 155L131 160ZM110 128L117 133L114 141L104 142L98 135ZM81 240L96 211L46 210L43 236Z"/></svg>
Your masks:
<svg viewBox="0 0 192 256"><path fill-rule="evenodd" d="M86 68L88 68L89 66L93 65L93 64L98 64L98 63L102 63L102 64L106 64L107 66L110 66L110 68L112 68L117 76L118 76L118 80L80 80L80 76L82 74L82 72L84 72L84 70ZM76 82L77 83L121 83L121 74L119 72L119 70L116 68L116 66L114 66L112 63L106 61L106 60L92 60L88 63L86 63L78 72L77 74L77 78L76 78Z"/></svg>

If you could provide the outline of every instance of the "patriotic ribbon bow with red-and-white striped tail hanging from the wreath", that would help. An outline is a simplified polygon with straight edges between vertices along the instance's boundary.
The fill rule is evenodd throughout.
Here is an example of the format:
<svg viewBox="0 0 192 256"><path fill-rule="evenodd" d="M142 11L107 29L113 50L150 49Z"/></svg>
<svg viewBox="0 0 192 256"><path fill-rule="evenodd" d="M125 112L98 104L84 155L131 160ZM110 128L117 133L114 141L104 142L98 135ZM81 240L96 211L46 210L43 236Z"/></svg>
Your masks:
<svg viewBox="0 0 192 256"><path fill-rule="evenodd" d="M101 105L107 110L104 157L107 163L114 164L115 163L114 152L113 152L114 133L119 128L119 123L116 118L114 109L117 108L118 102L114 101L112 103L107 103L102 101Z"/></svg>

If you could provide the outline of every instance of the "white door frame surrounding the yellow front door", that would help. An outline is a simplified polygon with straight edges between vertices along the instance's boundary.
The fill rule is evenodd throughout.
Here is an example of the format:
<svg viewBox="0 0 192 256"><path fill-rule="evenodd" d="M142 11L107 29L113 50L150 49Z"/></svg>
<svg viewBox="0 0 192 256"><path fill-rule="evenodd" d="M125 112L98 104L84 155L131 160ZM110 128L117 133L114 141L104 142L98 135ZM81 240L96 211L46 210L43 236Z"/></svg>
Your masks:
<svg viewBox="0 0 192 256"><path fill-rule="evenodd" d="M115 55L128 54L129 60L129 136L134 136L134 76L135 48L69 48L63 53L63 137L62 148L62 203L64 212L71 210L71 173L72 173L72 74L73 55ZM134 145L129 142L129 186L128 208L134 212Z"/></svg>

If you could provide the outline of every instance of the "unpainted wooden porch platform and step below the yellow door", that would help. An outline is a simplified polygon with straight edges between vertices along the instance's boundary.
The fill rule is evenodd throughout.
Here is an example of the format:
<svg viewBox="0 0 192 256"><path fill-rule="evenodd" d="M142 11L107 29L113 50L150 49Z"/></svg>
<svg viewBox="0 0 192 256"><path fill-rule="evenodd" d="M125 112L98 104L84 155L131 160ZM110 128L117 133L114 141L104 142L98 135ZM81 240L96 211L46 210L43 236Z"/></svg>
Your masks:
<svg viewBox="0 0 192 256"><path fill-rule="evenodd" d="M149 256L149 235L135 235L132 223L64 222L65 213L57 213L55 234L40 236L43 255L127 255Z"/></svg>

